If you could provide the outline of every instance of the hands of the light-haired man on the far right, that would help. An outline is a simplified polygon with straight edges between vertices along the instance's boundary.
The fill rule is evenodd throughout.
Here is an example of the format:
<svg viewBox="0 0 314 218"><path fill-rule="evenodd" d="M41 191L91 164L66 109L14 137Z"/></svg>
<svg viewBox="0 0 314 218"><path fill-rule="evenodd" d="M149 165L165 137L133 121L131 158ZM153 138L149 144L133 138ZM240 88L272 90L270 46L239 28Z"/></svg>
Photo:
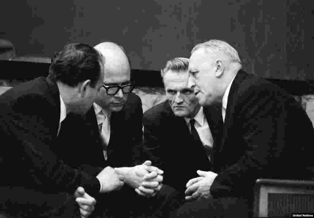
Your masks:
<svg viewBox="0 0 314 218"><path fill-rule="evenodd" d="M199 177L190 179L187 182L187 189L185 191L185 199L192 200L198 198L209 198L210 197L210 187L214 182L217 174L211 171L197 171Z"/></svg>

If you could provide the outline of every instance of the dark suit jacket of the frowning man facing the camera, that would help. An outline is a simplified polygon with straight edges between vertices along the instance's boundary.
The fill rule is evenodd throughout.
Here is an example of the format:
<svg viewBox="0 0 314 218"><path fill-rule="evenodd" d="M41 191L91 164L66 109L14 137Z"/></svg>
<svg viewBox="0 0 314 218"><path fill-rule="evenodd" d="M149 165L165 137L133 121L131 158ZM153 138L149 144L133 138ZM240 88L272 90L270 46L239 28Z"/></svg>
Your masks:
<svg viewBox="0 0 314 218"><path fill-rule="evenodd" d="M204 114L214 138L214 150L220 143L221 107L204 107ZM220 113L219 113L220 112ZM188 180L198 177L197 170L211 170L215 159L208 160L195 142L183 117L174 115L164 101L144 113L144 154L152 164L164 170L164 184L184 193Z"/></svg>

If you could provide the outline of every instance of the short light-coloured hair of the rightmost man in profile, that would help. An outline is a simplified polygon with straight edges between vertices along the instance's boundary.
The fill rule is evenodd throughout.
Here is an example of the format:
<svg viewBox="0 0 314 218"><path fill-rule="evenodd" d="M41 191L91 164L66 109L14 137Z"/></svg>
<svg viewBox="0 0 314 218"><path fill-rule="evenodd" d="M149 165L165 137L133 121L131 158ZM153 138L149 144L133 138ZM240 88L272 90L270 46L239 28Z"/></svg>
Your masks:
<svg viewBox="0 0 314 218"><path fill-rule="evenodd" d="M207 42L198 43L194 48L192 49L191 54L199 49L199 48L205 48L207 51L214 52L214 53L222 53L224 54L231 62L237 62L241 64L241 60L239 58L239 54L236 51L235 48L233 48L231 45L229 45L227 42L217 39L211 39Z"/></svg>

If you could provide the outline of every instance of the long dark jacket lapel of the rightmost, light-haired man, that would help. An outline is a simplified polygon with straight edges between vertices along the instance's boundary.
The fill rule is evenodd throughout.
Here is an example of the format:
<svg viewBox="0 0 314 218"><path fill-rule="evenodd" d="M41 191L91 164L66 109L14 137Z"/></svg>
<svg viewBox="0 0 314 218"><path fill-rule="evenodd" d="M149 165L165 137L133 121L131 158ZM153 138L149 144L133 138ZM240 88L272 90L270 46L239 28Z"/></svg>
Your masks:
<svg viewBox="0 0 314 218"><path fill-rule="evenodd" d="M246 78L247 74L243 70L239 70L237 73L235 79L232 82L232 85L230 87L230 92L228 95L228 103L227 103L227 109L226 109L226 115L225 115L225 123L223 128L223 138L221 142L221 148L222 150L223 146L225 145L226 139L228 138L228 131L233 125L233 116L236 116L234 114L234 103L236 102L237 98L237 91L241 85L241 82Z"/></svg>

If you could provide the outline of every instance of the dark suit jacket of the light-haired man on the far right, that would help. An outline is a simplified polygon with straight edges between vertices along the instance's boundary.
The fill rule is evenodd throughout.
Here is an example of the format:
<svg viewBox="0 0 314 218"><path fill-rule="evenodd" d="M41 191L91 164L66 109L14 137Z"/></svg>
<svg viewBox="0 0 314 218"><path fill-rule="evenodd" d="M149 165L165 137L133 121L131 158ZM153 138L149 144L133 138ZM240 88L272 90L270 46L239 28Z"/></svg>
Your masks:
<svg viewBox="0 0 314 218"><path fill-rule="evenodd" d="M311 120L295 98L240 70L228 96L211 194L250 198L258 178L311 178L313 134Z"/></svg>

